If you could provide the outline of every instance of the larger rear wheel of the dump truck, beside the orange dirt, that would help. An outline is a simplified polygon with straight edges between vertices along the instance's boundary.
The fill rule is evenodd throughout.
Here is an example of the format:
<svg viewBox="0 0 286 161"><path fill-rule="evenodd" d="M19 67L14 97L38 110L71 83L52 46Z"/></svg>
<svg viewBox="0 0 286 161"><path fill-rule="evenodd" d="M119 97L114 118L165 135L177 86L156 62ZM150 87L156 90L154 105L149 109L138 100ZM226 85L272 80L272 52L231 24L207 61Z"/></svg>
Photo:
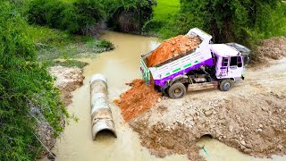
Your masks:
<svg viewBox="0 0 286 161"><path fill-rule="evenodd" d="M186 87L181 82L175 82L168 89L169 97L178 99L186 94Z"/></svg>

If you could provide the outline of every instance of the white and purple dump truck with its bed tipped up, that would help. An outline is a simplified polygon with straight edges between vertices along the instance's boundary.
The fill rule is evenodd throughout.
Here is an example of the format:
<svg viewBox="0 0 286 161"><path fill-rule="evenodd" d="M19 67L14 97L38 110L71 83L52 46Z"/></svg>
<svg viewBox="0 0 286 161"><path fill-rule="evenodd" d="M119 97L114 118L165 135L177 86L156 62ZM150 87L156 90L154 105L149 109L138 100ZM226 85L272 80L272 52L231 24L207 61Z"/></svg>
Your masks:
<svg viewBox="0 0 286 161"><path fill-rule="evenodd" d="M142 77L150 85L172 98L183 97L188 90L221 89L228 91L236 81L244 80L250 50L237 43L212 44L212 36L194 28L187 35L198 36L201 43L194 50L171 57L152 67L149 55L140 56Z"/></svg>

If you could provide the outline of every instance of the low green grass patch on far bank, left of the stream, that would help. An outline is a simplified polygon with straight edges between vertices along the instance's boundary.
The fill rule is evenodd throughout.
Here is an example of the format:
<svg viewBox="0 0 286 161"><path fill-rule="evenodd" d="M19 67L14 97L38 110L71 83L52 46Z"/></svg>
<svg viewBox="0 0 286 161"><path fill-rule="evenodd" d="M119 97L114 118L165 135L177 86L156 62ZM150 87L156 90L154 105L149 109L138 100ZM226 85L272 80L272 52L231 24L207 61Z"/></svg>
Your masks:
<svg viewBox="0 0 286 161"><path fill-rule="evenodd" d="M97 53L114 49L114 45L109 41L71 35L62 30L37 25L31 25L27 30L38 49L39 61L93 57Z"/></svg>

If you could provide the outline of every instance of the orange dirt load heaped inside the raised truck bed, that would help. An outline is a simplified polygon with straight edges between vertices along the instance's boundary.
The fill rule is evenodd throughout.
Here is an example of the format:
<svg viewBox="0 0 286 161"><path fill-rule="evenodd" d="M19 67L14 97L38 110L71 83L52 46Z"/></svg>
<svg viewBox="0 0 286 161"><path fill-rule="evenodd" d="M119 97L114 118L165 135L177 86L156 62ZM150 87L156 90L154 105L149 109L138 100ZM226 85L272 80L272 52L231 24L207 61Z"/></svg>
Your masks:
<svg viewBox="0 0 286 161"><path fill-rule="evenodd" d="M194 50L200 44L200 38L192 35L179 35L164 40L163 43L149 55L147 65L152 67L174 56Z"/></svg>

